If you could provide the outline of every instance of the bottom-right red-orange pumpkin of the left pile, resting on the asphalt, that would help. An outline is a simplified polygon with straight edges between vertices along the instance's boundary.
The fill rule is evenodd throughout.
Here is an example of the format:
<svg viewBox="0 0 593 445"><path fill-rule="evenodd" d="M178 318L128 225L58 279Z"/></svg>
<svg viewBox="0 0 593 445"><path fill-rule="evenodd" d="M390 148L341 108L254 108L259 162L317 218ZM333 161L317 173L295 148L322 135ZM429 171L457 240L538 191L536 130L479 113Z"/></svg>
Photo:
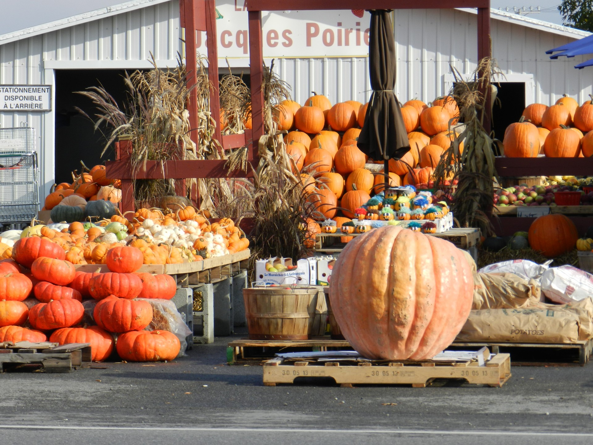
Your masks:
<svg viewBox="0 0 593 445"><path fill-rule="evenodd" d="M117 354L127 361L168 361L179 354L177 336L167 330L126 332L117 338Z"/></svg>

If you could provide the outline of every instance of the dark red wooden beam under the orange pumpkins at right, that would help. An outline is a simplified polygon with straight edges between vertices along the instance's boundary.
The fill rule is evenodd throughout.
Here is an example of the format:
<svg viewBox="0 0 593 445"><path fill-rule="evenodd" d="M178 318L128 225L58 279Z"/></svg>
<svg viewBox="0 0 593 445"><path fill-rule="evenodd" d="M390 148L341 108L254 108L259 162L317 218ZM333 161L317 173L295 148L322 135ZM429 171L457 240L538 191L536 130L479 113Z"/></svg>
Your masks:
<svg viewBox="0 0 593 445"><path fill-rule="evenodd" d="M499 176L589 176L593 158L496 158Z"/></svg>

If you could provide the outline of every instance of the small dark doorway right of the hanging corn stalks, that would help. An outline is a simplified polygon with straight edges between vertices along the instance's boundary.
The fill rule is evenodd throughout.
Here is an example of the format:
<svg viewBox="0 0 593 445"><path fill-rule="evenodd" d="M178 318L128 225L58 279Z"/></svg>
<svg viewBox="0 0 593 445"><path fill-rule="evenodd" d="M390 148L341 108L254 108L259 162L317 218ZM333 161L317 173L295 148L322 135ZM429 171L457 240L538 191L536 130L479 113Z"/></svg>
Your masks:
<svg viewBox="0 0 593 445"><path fill-rule="evenodd" d="M495 138L502 141L506 127L518 122L525 109L525 82L500 82L495 85L498 93L492 109L492 129Z"/></svg>

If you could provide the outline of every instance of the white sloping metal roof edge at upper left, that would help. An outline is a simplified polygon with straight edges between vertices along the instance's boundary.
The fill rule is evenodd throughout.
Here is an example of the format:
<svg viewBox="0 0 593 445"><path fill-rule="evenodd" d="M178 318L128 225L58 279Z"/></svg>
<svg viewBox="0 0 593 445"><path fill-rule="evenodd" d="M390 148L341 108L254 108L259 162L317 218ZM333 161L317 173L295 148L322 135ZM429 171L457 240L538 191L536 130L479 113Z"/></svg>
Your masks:
<svg viewBox="0 0 593 445"><path fill-rule="evenodd" d="M60 20L51 21L49 23L43 23L30 28L2 34L0 35L0 45L169 1L171 0L130 0L110 7L95 9L95 11L83 12L82 14L73 15L72 17L61 18Z"/></svg>

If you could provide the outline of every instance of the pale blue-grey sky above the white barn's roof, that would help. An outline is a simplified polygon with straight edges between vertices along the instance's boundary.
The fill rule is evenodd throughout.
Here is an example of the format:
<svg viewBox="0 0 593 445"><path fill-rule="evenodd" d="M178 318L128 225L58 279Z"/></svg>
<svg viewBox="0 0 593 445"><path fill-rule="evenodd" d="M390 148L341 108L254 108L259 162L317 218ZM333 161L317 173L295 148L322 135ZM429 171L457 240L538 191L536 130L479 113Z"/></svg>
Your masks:
<svg viewBox="0 0 593 445"><path fill-rule="evenodd" d="M528 14L538 20L562 24L562 17L556 7L561 0L539 0L529 3L527 0L491 0L493 8L537 7L553 9L540 14ZM123 3L123 0L0 0L0 34L21 30L60 18L82 14L82 12Z"/></svg>

